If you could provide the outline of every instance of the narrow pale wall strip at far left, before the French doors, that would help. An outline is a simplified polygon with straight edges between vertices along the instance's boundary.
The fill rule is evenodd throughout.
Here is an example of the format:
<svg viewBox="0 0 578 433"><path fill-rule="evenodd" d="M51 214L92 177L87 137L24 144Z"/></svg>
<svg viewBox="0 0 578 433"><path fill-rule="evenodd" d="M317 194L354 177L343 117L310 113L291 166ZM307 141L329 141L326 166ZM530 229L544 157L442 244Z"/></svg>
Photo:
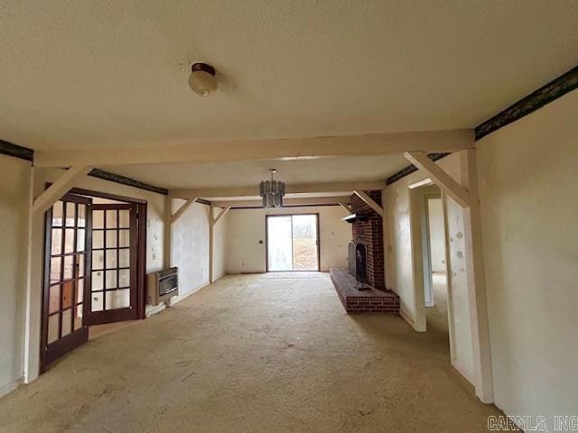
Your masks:
<svg viewBox="0 0 578 433"><path fill-rule="evenodd" d="M30 166L0 155L0 396L23 382Z"/></svg>

